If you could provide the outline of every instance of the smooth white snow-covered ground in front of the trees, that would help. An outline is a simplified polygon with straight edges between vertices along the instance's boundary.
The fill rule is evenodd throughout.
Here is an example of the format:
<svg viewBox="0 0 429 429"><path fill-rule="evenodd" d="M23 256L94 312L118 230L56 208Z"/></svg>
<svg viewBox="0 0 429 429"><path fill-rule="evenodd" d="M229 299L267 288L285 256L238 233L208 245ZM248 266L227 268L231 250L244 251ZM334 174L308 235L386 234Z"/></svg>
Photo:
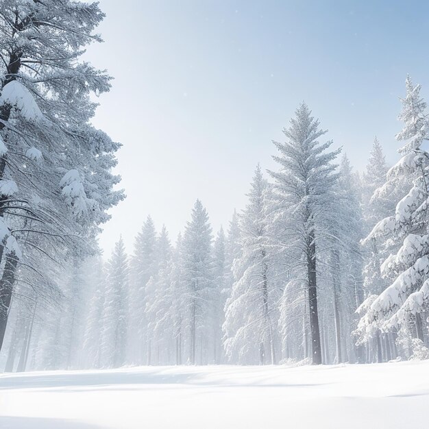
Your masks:
<svg viewBox="0 0 429 429"><path fill-rule="evenodd" d="M426 429L429 362L0 375L0 428Z"/></svg>

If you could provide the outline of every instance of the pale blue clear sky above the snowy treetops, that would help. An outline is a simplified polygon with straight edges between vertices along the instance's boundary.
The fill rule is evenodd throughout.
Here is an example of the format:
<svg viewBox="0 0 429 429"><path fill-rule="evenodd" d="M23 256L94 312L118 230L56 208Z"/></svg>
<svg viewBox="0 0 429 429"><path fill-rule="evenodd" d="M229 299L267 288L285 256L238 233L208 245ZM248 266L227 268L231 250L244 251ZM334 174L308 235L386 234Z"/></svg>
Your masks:
<svg viewBox="0 0 429 429"><path fill-rule="evenodd" d="M94 123L123 144L127 199L111 210L106 254L151 215L175 239L195 199L214 230L245 204L254 168L305 100L358 170L375 135L397 158L410 73L429 96L429 2L101 0L105 42L88 49L114 77Z"/></svg>

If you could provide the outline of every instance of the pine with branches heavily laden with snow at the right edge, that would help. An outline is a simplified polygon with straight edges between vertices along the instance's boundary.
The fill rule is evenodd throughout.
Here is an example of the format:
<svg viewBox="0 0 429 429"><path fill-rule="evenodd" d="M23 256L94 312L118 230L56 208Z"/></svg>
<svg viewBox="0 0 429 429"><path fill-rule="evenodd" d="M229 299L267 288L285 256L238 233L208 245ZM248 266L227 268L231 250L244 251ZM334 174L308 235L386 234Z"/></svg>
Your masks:
<svg viewBox="0 0 429 429"><path fill-rule="evenodd" d="M378 329L400 329L408 344L421 349L426 321L424 313L429 301L429 235L428 235L428 170L429 154L423 144L428 140L426 102L420 96L420 85L406 78L406 96L398 119L404 123L396 135L404 141L399 149L402 158L387 173L387 182L374 194L376 198L399 195L393 215L379 221L364 243L376 241L378 246L393 252L381 266L382 276L389 282L382 293L372 295L365 304L359 331L363 338ZM417 339L410 339L410 332Z"/></svg>

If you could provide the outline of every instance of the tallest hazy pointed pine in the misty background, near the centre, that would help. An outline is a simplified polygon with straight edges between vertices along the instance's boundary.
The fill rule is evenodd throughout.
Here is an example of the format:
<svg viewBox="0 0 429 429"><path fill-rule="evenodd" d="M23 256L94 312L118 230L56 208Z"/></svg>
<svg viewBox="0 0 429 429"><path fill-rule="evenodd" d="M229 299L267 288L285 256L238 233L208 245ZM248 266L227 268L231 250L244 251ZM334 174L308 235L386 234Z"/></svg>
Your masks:
<svg viewBox="0 0 429 429"><path fill-rule="evenodd" d="M183 237L183 281L186 284L184 326L188 330L191 364L208 363L212 359L213 336L208 317L213 305L212 228L208 213L197 199Z"/></svg>

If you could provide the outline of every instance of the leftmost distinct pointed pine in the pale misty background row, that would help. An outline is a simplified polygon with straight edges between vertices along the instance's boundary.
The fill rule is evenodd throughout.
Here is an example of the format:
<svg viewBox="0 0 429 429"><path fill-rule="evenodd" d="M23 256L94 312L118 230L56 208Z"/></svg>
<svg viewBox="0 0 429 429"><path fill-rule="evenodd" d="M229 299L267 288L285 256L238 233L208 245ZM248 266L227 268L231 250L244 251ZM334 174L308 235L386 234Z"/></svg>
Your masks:
<svg viewBox="0 0 429 429"><path fill-rule="evenodd" d="M128 258L122 237L107 264L106 292L101 330L101 365L121 367L127 345Z"/></svg>

